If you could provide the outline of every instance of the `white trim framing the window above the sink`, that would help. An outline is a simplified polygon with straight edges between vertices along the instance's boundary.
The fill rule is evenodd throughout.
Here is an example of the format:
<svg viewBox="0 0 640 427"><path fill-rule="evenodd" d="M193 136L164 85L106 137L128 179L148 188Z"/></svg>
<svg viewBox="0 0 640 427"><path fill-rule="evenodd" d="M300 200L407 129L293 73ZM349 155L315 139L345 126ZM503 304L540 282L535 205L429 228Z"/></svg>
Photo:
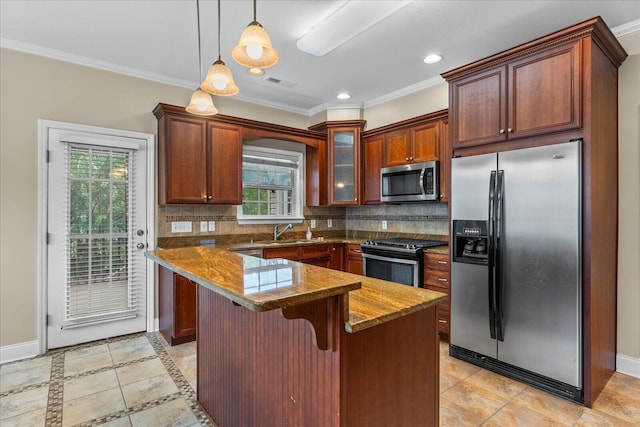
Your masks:
<svg viewBox="0 0 640 427"><path fill-rule="evenodd" d="M244 215L242 213L242 207L244 205L238 205L236 207L236 219L238 224L280 224L282 222L290 222L294 224L299 224L304 221L304 155L299 151L291 151L291 150L281 150L277 148L270 147L259 147L254 145L243 145L242 154L245 153L250 155L274 155L280 157L288 157L295 158L298 162L298 168L294 170L294 190L293 195L294 199L292 201L292 212L293 215ZM244 188L244 186L243 186Z"/></svg>

